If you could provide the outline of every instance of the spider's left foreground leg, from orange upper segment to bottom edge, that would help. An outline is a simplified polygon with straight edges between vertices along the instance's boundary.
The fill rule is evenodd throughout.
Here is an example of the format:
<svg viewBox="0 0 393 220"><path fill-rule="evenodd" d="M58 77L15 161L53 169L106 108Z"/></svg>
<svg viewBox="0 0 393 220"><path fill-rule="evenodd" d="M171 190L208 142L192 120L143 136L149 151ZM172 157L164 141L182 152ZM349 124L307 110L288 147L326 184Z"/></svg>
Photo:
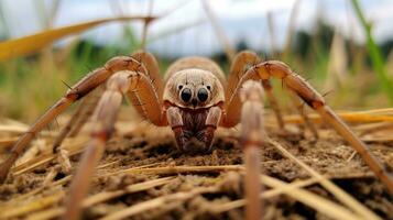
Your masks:
<svg viewBox="0 0 393 220"><path fill-rule="evenodd" d="M149 54L148 56L152 55ZM105 144L112 134L123 95L137 98L135 100L131 100L132 103L135 108L140 107L139 113L153 124L167 124L166 120L162 117L162 103L160 102L162 94L152 84L151 76L148 73L152 67L140 67L139 72L123 70L112 75L108 79L107 89L102 94L91 118L91 121L95 123L94 130L90 133L91 140L84 153L75 179L73 179L70 197L67 199L66 213L63 219L78 219L80 216L83 199L88 193L94 169L102 157ZM161 78L156 80L157 84L162 84Z"/></svg>

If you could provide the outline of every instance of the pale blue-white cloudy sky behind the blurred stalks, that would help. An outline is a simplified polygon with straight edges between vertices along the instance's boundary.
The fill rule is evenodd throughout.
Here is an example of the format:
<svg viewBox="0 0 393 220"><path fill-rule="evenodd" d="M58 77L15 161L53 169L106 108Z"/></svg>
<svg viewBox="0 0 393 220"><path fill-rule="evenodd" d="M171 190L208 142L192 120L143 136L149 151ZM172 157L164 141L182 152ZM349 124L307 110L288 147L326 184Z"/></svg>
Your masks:
<svg viewBox="0 0 393 220"><path fill-rule="evenodd" d="M210 0L208 1L231 44L244 41L254 50L271 47L268 14L274 25L274 43L282 47L291 10L296 0ZM354 15L350 0L299 0L296 30L313 31L316 19L323 18L346 37L359 43L364 34ZM0 0L0 33L8 30L11 37L21 37L45 29L45 12L50 14L53 0ZM393 1L361 0L367 19L373 23L373 34L379 42L393 38ZM178 8L178 6L183 6ZM178 8L173 11L173 9ZM222 50L222 45L208 22L200 0L154 0L152 14L173 11L154 22L149 29L149 51L174 56L208 55ZM144 0L66 0L61 1L53 26L70 25L94 19L117 15L146 15L149 1ZM123 25L111 23L83 34L102 44L122 45ZM142 23L131 25L141 36ZM189 26L183 31L182 26ZM165 33L172 33L167 35ZM160 37L159 37L160 36ZM63 41L64 43L64 41ZM62 45L62 42L59 43Z"/></svg>

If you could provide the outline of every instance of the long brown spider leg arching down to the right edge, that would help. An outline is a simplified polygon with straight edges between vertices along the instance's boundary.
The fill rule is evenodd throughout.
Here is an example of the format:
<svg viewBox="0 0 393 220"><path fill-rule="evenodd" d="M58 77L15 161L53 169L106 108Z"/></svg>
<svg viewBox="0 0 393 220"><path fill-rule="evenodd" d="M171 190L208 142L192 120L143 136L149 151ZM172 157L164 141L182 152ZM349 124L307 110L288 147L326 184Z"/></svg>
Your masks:
<svg viewBox="0 0 393 220"><path fill-rule="evenodd" d="M393 178L385 170L383 165L371 154L369 147L351 131L351 129L325 103L324 98L299 75L293 73L291 68L277 61L263 62L253 67L242 76L239 80L239 85L242 85L248 79L270 79L271 77L279 78L283 80L283 84L301 97L310 108L317 111L328 123L330 123L336 131L347 140L352 147L360 154L364 162L369 165L375 176L386 186L389 191L393 194ZM229 97L227 108L232 108L238 105L234 100L239 96L238 89L233 91L232 96ZM232 120L233 116L230 117ZM230 121L229 120L229 121ZM223 120L223 123L226 120ZM226 125L226 124L223 124Z"/></svg>

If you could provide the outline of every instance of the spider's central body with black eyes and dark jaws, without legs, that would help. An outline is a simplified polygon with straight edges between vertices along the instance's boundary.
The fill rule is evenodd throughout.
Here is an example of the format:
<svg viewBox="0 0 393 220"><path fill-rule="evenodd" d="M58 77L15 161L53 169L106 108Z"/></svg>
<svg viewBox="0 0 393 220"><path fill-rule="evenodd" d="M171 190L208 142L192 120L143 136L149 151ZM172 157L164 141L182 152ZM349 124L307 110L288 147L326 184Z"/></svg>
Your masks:
<svg viewBox="0 0 393 220"><path fill-rule="evenodd" d="M165 77L164 112L178 148L211 150L225 103L223 73L209 59L188 57L174 63Z"/></svg>

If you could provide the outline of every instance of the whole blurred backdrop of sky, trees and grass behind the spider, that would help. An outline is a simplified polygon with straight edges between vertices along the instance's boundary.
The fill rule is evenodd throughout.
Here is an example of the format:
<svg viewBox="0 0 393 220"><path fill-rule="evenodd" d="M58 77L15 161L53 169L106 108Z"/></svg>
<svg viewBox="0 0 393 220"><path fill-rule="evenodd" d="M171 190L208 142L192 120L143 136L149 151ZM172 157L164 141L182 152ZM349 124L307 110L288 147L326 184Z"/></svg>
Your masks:
<svg viewBox="0 0 393 220"><path fill-rule="evenodd" d="M287 63L335 109L385 108L393 103L392 21L391 0L0 0L0 116L31 122L66 85L144 45L162 73L189 55L228 73L236 52L252 50ZM291 111L281 82L274 87Z"/></svg>

